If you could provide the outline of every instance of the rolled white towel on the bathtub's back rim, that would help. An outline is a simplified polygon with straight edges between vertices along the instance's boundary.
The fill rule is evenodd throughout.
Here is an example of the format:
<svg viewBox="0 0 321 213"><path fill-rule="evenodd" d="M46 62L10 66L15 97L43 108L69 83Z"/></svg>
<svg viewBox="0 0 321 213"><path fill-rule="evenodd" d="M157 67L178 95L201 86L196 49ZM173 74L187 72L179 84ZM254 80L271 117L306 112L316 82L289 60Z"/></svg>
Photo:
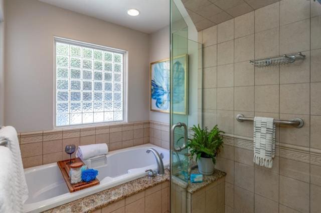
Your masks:
<svg viewBox="0 0 321 213"><path fill-rule="evenodd" d="M108 146L106 143L97 143L90 145L80 145L76 152L76 157L80 159L87 159L89 157L98 156L108 153Z"/></svg>

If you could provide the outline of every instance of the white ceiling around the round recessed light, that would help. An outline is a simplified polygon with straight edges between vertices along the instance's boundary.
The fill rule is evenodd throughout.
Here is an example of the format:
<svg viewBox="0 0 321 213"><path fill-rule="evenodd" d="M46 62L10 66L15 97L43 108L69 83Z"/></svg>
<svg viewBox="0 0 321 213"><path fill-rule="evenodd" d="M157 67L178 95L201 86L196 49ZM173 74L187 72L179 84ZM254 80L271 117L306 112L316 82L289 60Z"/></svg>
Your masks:
<svg viewBox="0 0 321 213"><path fill-rule="evenodd" d="M170 24L169 0L40 0L58 7L96 17L145 33ZM127 9L136 8L138 16L129 16Z"/></svg>

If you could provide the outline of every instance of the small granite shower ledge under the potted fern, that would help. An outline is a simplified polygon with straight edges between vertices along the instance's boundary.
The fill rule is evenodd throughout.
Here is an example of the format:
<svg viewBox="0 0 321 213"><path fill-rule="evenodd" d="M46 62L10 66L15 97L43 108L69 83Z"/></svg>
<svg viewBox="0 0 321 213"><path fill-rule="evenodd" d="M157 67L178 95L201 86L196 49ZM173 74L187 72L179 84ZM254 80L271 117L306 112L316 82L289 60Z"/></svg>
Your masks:
<svg viewBox="0 0 321 213"><path fill-rule="evenodd" d="M200 173L198 168L193 168L192 173ZM187 191L190 193L194 193L195 191L200 190L201 188L215 182L216 180L224 177L226 172L220 171L218 169L214 169L214 173L212 175L203 175L203 182L191 183L189 180L189 184L187 186Z"/></svg>

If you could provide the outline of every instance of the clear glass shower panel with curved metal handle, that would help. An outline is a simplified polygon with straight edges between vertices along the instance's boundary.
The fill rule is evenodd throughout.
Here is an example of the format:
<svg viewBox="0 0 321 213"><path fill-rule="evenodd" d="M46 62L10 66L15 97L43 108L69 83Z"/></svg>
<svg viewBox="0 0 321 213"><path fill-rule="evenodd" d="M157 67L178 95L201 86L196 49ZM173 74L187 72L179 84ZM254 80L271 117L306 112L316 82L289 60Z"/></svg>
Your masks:
<svg viewBox="0 0 321 213"><path fill-rule="evenodd" d="M202 126L202 44L182 2L171 0L171 212L188 212L190 127ZM182 12L183 11L183 12ZM186 11L186 10L185 10ZM192 22L191 22L192 23Z"/></svg>

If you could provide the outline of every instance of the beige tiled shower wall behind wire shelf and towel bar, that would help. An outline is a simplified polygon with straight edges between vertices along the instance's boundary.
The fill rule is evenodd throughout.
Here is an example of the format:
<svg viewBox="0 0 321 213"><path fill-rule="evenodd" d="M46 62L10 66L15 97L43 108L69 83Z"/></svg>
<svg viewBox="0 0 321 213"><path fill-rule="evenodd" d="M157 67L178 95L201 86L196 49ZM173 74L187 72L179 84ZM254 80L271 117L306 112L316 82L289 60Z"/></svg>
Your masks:
<svg viewBox="0 0 321 213"><path fill-rule="evenodd" d="M311 8L311 10L310 10ZM226 212L321 212L321 4L281 0L200 32L204 123L228 133ZM302 51L303 61L254 68L249 60ZM253 123L236 114L301 117L277 126L273 168L253 164Z"/></svg>

